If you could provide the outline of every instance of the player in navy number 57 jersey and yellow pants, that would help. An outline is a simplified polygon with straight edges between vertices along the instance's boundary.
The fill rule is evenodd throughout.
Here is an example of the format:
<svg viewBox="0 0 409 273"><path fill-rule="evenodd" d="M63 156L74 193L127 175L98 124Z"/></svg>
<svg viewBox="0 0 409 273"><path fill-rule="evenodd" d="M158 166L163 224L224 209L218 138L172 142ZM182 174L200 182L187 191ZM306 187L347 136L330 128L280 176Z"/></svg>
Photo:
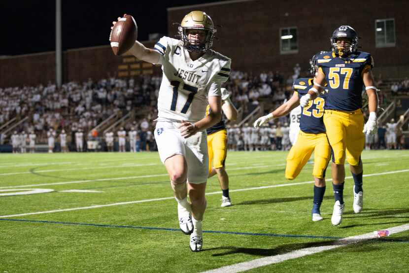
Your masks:
<svg viewBox="0 0 409 273"><path fill-rule="evenodd" d="M343 183L345 179L345 158L354 177L355 213L362 210L362 161L361 152L365 135L376 131L377 95L371 69L373 58L369 53L357 51L358 35L349 26L337 28L332 37L332 52L320 54L317 59L318 73L314 86L300 99L307 105L328 84L328 95L324 106L324 124L333 151L333 187L335 205L331 222L339 225L342 221ZM369 102L369 119L364 127L362 114L362 90L366 86Z"/></svg>

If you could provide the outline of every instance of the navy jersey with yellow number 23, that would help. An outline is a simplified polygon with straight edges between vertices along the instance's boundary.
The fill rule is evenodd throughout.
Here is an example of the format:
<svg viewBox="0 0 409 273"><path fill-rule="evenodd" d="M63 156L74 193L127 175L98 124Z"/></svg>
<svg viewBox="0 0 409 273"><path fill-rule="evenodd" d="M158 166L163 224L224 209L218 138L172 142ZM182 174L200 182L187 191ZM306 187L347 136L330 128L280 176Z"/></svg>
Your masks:
<svg viewBox="0 0 409 273"><path fill-rule="evenodd" d="M314 86L312 78L300 78L294 81L293 89L298 93L298 98L301 98L312 86ZM326 96L326 94L319 95L306 107L301 107L300 130L304 133L325 133L323 116Z"/></svg>

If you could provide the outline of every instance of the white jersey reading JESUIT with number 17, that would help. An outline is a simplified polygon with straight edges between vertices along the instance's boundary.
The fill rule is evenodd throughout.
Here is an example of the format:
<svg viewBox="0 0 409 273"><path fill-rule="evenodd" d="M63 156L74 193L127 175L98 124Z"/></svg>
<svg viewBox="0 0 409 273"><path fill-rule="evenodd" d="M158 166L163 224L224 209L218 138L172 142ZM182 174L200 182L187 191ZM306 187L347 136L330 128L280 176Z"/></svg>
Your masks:
<svg viewBox="0 0 409 273"><path fill-rule="evenodd" d="M220 86L230 74L231 60L211 49L196 61L180 40L163 36L154 49L161 55L163 77L158 97L158 121L205 117L207 98L221 96Z"/></svg>

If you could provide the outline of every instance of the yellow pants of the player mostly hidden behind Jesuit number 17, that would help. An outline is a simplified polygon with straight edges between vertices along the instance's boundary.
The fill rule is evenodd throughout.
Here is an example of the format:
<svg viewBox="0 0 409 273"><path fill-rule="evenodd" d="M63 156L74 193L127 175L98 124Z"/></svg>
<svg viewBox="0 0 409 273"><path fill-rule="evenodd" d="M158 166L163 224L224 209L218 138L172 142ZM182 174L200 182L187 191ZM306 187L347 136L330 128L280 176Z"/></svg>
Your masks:
<svg viewBox="0 0 409 273"><path fill-rule="evenodd" d="M212 166L215 169L224 167L227 156L227 130L220 130L207 135L207 153L209 154L209 173Z"/></svg>

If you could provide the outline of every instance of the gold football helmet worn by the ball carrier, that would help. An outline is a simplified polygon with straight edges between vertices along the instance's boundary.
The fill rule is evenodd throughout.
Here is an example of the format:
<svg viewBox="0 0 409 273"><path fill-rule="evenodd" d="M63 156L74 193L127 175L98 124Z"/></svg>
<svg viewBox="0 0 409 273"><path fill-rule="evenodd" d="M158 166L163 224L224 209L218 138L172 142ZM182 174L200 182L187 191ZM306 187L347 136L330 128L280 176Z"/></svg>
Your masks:
<svg viewBox="0 0 409 273"><path fill-rule="evenodd" d="M189 30L203 30L205 31L205 39L203 42L190 41L188 38ZM178 27L178 34L183 42L183 47L189 51L205 52L213 45L213 38L216 34L213 21L203 11L191 11L182 19L182 23Z"/></svg>

